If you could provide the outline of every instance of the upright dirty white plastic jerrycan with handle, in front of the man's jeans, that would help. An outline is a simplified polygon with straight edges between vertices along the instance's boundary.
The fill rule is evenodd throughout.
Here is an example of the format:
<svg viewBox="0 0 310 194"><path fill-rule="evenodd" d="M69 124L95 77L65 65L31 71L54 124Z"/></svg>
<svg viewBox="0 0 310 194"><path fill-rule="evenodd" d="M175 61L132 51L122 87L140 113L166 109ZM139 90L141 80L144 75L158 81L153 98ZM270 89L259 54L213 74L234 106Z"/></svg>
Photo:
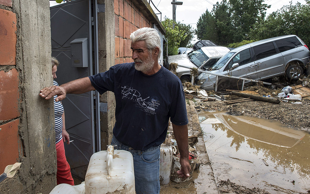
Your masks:
<svg viewBox="0 0 310 194"><path fill-rule="evenodd" d="M99 151L91 156L85 176L86 194L135 194L134 163L130 152Z"/></svg>

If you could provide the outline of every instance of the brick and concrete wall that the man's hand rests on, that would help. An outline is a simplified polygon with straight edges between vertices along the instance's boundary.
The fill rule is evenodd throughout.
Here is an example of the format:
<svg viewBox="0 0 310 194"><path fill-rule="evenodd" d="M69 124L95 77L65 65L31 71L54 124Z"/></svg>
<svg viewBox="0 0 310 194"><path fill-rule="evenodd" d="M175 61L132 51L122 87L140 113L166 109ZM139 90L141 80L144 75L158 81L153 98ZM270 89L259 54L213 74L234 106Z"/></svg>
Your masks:
<svg viewBox="0 0 310 194"><path fill-rule="evenodd" d="M56 185L49 2L0 0L0 174L21 162L0 193L49 193Z"/></svg>

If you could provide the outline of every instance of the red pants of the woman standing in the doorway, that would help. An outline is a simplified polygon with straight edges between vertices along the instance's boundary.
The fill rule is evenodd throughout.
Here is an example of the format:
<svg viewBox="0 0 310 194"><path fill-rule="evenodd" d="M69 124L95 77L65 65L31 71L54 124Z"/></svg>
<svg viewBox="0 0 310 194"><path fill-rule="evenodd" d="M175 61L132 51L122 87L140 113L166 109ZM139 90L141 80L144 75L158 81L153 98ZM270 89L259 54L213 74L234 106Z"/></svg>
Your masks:
<svg viewBox="0 0 310 194"><path fill-rule="evenodd" d="M74 185L74 181L70 172L70 166L67 162L67 158L64 152L64 141L56 143L56 153L57 153L57 185L61 183L67 183L69 185Z"/></svg>

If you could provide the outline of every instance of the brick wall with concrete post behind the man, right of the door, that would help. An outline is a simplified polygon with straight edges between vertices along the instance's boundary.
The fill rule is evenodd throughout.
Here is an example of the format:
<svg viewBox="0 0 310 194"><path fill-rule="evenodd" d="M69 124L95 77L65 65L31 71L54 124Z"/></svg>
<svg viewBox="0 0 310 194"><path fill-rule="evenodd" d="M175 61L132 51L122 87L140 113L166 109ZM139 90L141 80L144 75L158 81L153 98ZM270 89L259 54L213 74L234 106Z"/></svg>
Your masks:
<svg viewBox="0 0 310 194"><path fill-rule="evenodd" d="M104 72L131 59L130 34L141 27L155 24L164 34L162 24L146 0L98 0L105 4L105 13L98 13L99 71ZM100 97L108 103L108 112L101 112L101 147L104 150L112 140L115 123L115 99L112 92Z"/></svg>

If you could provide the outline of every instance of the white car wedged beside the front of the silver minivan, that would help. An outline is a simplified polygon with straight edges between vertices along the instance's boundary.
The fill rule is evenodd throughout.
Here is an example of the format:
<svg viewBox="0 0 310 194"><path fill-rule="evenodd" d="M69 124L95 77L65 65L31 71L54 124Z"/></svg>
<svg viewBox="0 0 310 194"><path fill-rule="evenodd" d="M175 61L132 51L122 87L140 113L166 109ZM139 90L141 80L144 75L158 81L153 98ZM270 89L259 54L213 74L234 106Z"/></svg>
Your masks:
<svg viewBox="0 0 310 194"><path fill-rule="evenodd" d="M206 70L212 67L216 61L223 57L228 51L229 49L224 46L201 47L187 54L167 57L166 64L164 66L169 69L170 63L177 63L178 65L189 68L195 67L197 69ZM176 73L181 79L181 82L184 83L191 81L190 69L177 67ZM201 72L198 73L200 74Z"/></svg>

